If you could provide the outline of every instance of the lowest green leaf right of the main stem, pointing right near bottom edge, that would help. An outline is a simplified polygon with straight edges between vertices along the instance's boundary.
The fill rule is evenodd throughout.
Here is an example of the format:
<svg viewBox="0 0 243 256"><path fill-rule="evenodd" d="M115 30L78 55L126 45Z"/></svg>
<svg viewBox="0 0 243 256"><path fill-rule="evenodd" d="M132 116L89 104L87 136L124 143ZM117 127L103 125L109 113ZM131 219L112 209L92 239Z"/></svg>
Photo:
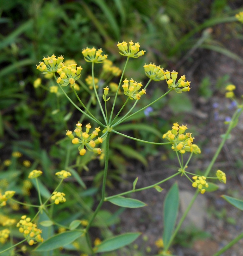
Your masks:
<svg viewBox="0 0 243 256"><path fill-rule="evenodd" d="M105 239L101 244L96 246L96 253L114 251L118 248L131 244L141 233L125 233L118 236Z"/></svg>

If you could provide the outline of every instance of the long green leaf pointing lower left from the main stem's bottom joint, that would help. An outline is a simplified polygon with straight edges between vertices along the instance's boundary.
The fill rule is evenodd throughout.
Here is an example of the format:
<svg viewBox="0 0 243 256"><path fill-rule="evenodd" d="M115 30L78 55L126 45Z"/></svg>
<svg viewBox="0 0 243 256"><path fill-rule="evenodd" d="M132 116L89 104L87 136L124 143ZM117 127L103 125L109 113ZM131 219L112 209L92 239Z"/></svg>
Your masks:
<svg viewBox="0 0 243 256"><path fill-rule="evenodd" d="M74 240L79 238L83 234L82 231L67 231L60 234L57 234L35 248L34 251L42 252L42 251L50 251L59 247L63 247L65 245L71 244Z"/></svg>

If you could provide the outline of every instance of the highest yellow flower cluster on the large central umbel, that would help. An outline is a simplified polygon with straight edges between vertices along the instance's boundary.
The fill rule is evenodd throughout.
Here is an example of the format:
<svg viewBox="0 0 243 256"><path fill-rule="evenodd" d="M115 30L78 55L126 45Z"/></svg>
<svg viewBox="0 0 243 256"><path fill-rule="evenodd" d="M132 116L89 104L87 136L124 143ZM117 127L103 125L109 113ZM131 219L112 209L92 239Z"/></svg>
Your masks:
<svg viewBox="0 0 243 256"><path fill-rule="evenodd" d="M129 44L129 50L128 50L128 44ZM128 56L128 57L132 57L132 58L138 58L142 55L144 55L144 53L146 51L143 50L139 50L140 44L139 43L135 43L131 40L129 43L123 41L122 43L119 43L116 45L118 46L118 49L120 50L119 53L122 56Z"/></svg>

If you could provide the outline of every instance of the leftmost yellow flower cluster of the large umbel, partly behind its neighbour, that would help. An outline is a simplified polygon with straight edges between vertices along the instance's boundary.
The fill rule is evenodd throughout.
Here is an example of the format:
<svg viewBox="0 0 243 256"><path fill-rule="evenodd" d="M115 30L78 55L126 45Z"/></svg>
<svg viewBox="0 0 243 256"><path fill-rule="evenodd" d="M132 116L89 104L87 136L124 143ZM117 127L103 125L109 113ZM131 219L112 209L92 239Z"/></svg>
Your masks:
<svg viewBox="0 0 243 256"><path fill-rule="evenodd" d="M43 58L43 61L39 63L39 65L36 65L36 69L38 69L43 74L50 74L54 73L58 70L58 66L60 63L62 63L64 60L64 57L61 55L59 57L56 57L53 53L51 57L47 56Z"/></svg>

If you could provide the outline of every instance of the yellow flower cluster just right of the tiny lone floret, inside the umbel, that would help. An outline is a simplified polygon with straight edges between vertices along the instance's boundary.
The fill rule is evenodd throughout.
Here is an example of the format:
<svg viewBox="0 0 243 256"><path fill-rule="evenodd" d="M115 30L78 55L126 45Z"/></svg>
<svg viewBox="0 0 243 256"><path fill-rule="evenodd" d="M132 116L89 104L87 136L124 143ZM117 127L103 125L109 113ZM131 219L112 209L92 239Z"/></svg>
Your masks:
<svg viewBox="0 0 243 256"><path fill-rule="evenodd" d="M128 83L129 82L129 83ZM146 93L146 90L142 89L139 91L142 87L142 82L138 83L133 80L125 80L123 81L122 88L124 90L124 94L127 95L130 99L140 99L143 94Z"/></svg>

